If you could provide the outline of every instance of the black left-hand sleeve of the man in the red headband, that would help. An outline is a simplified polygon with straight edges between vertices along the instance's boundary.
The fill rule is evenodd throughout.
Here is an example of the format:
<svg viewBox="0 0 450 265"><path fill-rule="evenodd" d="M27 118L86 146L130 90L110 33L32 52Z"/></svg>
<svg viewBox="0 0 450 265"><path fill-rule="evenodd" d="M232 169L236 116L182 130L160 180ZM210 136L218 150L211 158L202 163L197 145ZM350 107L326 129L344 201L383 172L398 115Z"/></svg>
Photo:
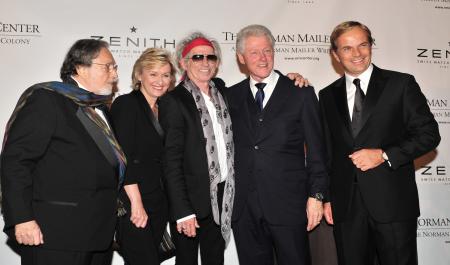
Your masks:
<svg viewBox="0 0 450 265"><path fill-rule="evenodd" d="M183 171L186 128L180 106L172 95L161 98L159 111L161 126L165 131L164 182L173 213L172 219L178 220L194 214Z"/></svg>

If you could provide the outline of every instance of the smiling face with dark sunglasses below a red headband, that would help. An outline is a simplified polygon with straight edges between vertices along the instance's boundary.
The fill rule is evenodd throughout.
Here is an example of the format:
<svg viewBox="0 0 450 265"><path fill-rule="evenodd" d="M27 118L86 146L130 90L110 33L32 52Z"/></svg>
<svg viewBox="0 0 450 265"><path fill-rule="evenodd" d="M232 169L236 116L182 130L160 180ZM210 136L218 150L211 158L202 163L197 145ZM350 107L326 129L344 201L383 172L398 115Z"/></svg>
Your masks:
<svg viewBox="0 0 450 265"><path fill-rule="evenodd" d="M197 46L192 48L186 57L191 58L193 55L214 55L214 49L206 45ZM180 65L186 71L189 79L197 84L197 86L200 86L200 84L209 83L209 80L214 77L218 62L208 60L206 57L201 61L182 58Z"/></svg>

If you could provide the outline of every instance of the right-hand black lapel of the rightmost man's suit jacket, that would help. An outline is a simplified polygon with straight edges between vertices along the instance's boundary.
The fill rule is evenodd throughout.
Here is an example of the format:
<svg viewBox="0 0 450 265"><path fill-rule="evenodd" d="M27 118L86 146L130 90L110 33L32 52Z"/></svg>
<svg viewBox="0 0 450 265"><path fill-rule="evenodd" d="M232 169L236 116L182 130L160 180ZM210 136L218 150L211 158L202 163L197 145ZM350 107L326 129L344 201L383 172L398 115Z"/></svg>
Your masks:
<svg viewBox="0 0 450 265"><path fill-rule="evenodd" d="M363 113L361 118L361 130L364 128L364 125L366 124L370 115L373 113L373 110L378 103L378 99L380 98L381 93L384 90L386 81L387 79L383 77L381 69L374 66L372 75L370 77L369 86L367 88L367 95L364 100Z"/></svg>

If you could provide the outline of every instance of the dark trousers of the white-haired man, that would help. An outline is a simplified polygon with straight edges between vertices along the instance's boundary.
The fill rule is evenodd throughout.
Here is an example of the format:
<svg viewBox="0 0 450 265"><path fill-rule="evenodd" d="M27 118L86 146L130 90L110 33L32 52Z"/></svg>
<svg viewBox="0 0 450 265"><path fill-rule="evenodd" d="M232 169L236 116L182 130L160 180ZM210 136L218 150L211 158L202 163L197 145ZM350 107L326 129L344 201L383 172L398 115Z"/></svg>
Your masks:
<svg viewBox="0 0 450 265"><path fill-rule="evenodd" d="M275 259L277 265L310 264L306 222L268 223L256 191L249 194L244 212L233 222L233 234L240 265L273 265Z"/></svg>

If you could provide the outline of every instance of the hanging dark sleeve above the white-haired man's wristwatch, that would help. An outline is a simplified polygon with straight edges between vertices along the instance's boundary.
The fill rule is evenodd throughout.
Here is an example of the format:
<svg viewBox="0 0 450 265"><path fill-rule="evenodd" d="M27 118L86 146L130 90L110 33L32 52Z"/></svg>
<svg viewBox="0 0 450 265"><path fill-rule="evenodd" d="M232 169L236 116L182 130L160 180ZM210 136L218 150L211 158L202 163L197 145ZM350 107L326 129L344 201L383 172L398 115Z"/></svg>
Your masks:
<svg viewBox="0 0 450 265"><path fill-rule="evenodd" d="M327 171L325 144L319 114L319 102L313 87L302 88L304 101L302 110L306 144L306 167L308 171L309 195L322 193L326 196Z"/></svg>

